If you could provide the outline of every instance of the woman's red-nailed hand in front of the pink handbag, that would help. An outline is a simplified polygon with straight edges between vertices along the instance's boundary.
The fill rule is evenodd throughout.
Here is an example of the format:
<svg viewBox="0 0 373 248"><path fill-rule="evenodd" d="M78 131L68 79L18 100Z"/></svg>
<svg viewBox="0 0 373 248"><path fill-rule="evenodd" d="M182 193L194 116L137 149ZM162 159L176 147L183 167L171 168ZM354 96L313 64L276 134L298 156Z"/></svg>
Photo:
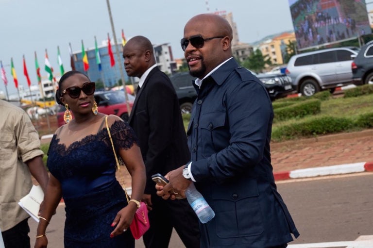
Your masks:
<svg viewBox="0 0 373 248"><path fill-rule="evenodd" d="M111 223L112 227L116 228L114 231L110 233L110 237L113 238L117 235L122 234L123 232L127 231L130 228L130 224L134 219L137 207L135 204L128 204L126 207L122 208L117 216L115 216L113 223Z"/></svg>

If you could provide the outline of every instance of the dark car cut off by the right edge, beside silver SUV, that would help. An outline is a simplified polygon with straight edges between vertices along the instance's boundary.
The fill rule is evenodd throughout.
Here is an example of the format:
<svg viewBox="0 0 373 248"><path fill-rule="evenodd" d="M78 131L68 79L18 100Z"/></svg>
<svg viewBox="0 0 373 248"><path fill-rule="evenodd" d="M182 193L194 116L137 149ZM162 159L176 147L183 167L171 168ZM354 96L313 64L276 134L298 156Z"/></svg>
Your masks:
<svg viewBox="0 0 373 248"><path fill-rule="evenodd" d="M364 45L351 63L352 81L356 85L373 84L373 41Z"/></svg>

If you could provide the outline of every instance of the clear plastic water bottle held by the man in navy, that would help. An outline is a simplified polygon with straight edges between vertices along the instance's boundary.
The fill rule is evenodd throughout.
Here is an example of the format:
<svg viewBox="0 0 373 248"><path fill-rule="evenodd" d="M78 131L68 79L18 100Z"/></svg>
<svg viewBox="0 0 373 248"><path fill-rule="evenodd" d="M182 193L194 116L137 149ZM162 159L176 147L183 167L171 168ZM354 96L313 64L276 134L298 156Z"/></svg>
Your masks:
<svg viewBox="0 0 373 248"><path fill-rule="evenodd" d="M194 212L204 224L215 217L215 212L212 210L207 201L203 198L202 194L196 189L194 183L190 183L189 187L185 191L186 199Z"/></svg>

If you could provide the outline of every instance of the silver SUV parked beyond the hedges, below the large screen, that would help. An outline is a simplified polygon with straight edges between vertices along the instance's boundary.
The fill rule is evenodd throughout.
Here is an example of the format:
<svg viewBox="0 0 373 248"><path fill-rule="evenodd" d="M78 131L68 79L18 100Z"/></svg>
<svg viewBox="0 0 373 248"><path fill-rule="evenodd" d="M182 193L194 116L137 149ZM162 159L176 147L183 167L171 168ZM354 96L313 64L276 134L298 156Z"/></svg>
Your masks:
<svg viewBox="0 0 373 248"><path fill-rule="evenodd" d="M351 62L359 52L357 47L342 47L305 52L290 58L286 74L294 90L304 96L352 84Z"/></svg>

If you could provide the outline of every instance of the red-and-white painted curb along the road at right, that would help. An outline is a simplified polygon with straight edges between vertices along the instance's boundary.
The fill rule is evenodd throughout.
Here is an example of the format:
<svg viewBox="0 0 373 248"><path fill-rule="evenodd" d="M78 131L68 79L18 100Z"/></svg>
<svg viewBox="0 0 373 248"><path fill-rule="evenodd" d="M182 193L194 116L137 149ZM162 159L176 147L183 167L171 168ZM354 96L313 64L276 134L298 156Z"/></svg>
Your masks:
<svg viewBox="0 0 373 248"><path fill-rule="evenodd" d="M364 171L373 171L373 162L361 162L354 164L344 164L344 165L331 165L322 167L313 167L306 169L297 169L290 171L279 171L274 172L274 180L287 180L287 179L299 179L299 178L310 178L319 176L329 176L329 175L340 175L357 173Z"/></svg>

